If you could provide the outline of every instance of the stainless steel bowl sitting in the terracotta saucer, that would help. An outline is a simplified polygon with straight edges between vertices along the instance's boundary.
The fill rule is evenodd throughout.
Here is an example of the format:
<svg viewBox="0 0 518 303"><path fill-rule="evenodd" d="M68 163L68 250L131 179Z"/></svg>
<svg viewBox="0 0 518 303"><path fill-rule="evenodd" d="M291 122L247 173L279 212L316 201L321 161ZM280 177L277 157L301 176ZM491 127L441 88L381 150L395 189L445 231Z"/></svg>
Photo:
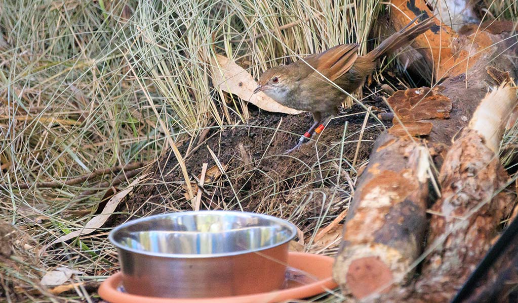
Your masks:
<svg viewBox="0 0 518 303"><path fill-rule="evenodd" d="M296 228L254 213L156 215L114 228L124 290L154 297L219 297L279 289Z"/></svg>

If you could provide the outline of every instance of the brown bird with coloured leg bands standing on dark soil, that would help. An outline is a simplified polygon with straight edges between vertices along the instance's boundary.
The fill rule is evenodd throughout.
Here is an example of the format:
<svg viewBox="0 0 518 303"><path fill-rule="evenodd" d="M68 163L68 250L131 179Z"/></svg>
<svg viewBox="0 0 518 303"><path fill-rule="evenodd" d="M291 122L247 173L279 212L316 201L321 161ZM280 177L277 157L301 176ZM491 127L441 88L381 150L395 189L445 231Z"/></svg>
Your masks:
<svg viewBox="0 0 518 303"><path fill-rule="evenodd" d="M338 113L338 106L346 94L330 81L349 93L357 90L363 85L365 77L376 68L378 58L406 46L435 24L434 17L431 17L410 28L420 17L416 17L365 56L356 53L359 47L357 43L340 44L289 65L270 68L261 75L254 93L264 91L282 105L313 114L313 125L300 137L297 145L286 153L297 150L314 132L320 133L324 129L324 125L320 124L322 115Z"/></svg>

